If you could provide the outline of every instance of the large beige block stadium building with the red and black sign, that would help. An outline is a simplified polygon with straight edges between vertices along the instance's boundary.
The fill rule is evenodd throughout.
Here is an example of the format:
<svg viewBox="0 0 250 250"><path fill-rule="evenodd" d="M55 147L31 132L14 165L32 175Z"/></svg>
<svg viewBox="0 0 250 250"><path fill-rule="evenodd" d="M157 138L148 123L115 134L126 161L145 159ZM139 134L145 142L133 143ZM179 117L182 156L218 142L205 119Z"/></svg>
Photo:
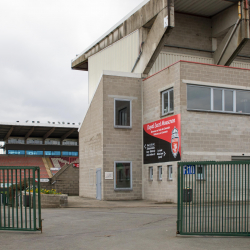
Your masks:
<svg viewBox="0 0 250 250"><path fill-rule="evenodd" d="M71 67L89 74L80 196L177 202L178 161L249 159L247 0L146 0Z"/></svg>

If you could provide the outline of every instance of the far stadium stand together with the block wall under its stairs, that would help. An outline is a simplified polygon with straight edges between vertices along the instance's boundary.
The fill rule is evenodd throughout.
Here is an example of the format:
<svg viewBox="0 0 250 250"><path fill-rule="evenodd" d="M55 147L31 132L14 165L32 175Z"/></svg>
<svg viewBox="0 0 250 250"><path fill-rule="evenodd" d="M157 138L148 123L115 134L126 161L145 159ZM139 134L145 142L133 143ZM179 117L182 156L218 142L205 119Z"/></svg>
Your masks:
<svg viewBox="0 0 250 250"><path fill-rule="evenodd" d="M42 187L78 194L79 173L75 172L79 171L71 169L79 167L78 128L79 124L70 123L0 122L0 141L4 142L1 146L3 154L0 154L0 166L39 166ZM68 176L64 183L52 187L50 184L66 169Z"/></svg>

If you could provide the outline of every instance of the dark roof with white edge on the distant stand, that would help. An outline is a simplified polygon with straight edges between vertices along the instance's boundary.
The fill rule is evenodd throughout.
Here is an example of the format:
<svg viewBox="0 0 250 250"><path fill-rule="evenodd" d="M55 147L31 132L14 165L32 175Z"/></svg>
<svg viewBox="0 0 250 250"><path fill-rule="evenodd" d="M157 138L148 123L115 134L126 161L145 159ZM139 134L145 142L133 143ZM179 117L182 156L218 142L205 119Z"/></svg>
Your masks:
<svg viewBox="0 0 250 250"><path fill-rule="evenodd" d="M0 141L9 137L78 139L78 125L0 122Z"/></svg>

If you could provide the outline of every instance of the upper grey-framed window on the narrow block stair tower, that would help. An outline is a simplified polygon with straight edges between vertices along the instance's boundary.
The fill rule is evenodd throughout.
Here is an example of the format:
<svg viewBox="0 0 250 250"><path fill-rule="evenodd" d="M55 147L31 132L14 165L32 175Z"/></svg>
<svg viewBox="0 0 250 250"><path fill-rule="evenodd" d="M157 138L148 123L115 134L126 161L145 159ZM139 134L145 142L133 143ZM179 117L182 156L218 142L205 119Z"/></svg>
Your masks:
<svg viewBox="0 0 250 250"><path fill-rule="evenodd" d="M116 128L132 127L131 100L115 99L114 103L114 126Z"/></svg>

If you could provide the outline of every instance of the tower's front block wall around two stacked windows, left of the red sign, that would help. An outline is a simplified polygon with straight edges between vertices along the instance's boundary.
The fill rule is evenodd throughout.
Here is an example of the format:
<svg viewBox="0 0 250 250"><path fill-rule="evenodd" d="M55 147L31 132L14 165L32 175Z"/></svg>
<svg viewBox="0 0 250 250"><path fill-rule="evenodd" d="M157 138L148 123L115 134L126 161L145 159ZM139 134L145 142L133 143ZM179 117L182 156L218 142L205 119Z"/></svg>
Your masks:
<svg viewBox="0 0 250 250"><path fill-rule="evenodd" d="M105 75L103 78L103 198L134 200L142 198L142 80ZM114 98L132 101L132 128L114 128ZM132 191L115 191L114 181L105 172L114 172L115 161L132 162Z"/></svg>

